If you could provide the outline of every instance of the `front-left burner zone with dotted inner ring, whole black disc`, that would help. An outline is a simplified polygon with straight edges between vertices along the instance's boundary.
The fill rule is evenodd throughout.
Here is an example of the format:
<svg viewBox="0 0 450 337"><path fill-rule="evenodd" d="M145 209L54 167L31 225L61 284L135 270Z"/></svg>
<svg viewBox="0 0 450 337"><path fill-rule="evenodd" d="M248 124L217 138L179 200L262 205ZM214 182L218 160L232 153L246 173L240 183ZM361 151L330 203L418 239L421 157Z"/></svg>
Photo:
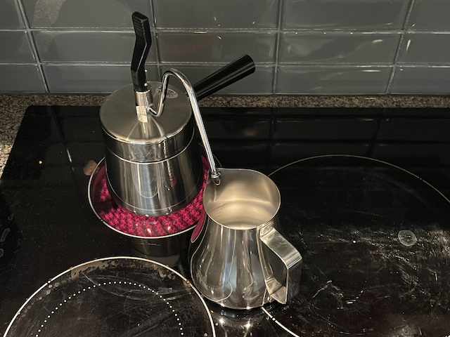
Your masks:
<svg viewBox="0 0 450 337"><path fill-rule="evenodd" d="M215 336L191 282L142 258L90 261L50 279L24 303L8 336Z"/></svg>

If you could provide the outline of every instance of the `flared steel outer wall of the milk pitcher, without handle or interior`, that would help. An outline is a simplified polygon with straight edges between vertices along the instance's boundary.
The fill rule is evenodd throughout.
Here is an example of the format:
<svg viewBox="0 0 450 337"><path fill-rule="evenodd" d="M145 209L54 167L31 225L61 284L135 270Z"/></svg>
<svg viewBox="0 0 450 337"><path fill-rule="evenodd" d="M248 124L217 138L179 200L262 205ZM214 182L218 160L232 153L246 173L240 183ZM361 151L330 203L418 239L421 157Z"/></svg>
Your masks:
<svg viewBox="0 0 450 337"><path fill-rule="evenodd" d="M198 246L190 248L191 277L198 291L233 309L257 308L274 300L264 282L258 237L257 228L233 230L207 216Z"/></svg>

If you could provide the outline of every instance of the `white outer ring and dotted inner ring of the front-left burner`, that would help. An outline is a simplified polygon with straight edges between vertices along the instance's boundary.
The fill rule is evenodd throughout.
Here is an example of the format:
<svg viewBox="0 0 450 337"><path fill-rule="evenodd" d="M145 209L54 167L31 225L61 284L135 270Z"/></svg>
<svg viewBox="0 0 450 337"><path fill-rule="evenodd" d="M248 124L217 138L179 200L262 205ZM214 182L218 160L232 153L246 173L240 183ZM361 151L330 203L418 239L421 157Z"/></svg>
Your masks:
<svg viewBox="0 0 450 337"><path fill-rule="evenodd" d="M212 320L212 316L211 316L211 312L210 309L207 307L207 304L205 303L205 300L203 299L203 296L198 292L197 289L195 289L195 287L193 286L193 284L186 279L186 277L184 277L183 275L181 275L179 272L177 272L176 270L173 270L170 267L167 267L167 265L163 265L162 263L158 263L157 261L153 261L153 260L148 260L146 258L137 258L137 257L131 257L131 256L112 256L109 258L98 258L96 260L91 260L79 265L76 265L75 267L70 267L68 270L65 270L64 272L61 272L60 274L56 275L55 277L52 277L51 279L49 279L49 281L47 281L45 284L43 284L42 286L39 287L39 289L37 289L37 291L34 291L34 293L32 293L32 295L27 298L27 300L25 301L25 303L23 303L23 305L18 309L18 311L15 313L13 319L11 319L11 322L8 324L8 327L6 328L6 331L4 333L4 337L8 337L8 332L11 329L11 327L13 326L15 319L17 319L19 317L19 315L21 315L21 313L23 312L23 310L27 307L28 304L30 304L30 302L34 299L34 296L36 296L40 291L42 291L44 288L48 287L49 284L51 284L52 282L55 282L58 278L62 277L63 275L72 272L73 270L77 269L77 268L81 268L83 266L89 265L91 263L98 263L98 262L102 262L102 261L108 261L108 260L141 260L143 262L146 263L153 263L155 265L159 265L160 267L163 267L167 270L169 270L170 272L173 272L176 276L180 277L180 279L185 283L188 284L188 286L193 289L194 293L198 296L198 298L200 299L200 302L203 304L203 307L205 308L205 311L207 312L207 317L208 319L210 319L210 326L211 326L211 331L212 331L212 337L216 337L216 331L214 329L214 322ZM111 282L110 282L111 283ZM134 284L132 282L123 282L123 284ZM136 286L141 286L140 284L134 284ZM93 286L95 287L95 286ZM84 290L84 289L83 289ZM165 300L165 298L163 298L161 295L158 294L158 291L154 291L153 289L148 288L148 291L151 291L153 293L155 293L155 295L160 296L161 300L163 300L166 304L167 304L167 300ZM77 293L81 293L81 291L78 291ZM76 296L75 293L72 296ZM71 299L71 296L69 296L67 299ZM63 302L65 302L67 299L63 300ZM60 305L62 305L62 303L60 303ZM53 315L53 312L58 310L58 307L56 307L54 310L52 310L51 314ZM172 310L174 311L174 310ZM175 313L176 316L176 313ZM49 319L51 317L51 315L47 316L47 319ZM44 322L41 322L41 327L44 326L43 323L46 323L45 320ZM37 331L36 334L34 334L34 336L39 337L39 333L41 331ZM184 336L184 334L182 333L181 336Z"/></svg>

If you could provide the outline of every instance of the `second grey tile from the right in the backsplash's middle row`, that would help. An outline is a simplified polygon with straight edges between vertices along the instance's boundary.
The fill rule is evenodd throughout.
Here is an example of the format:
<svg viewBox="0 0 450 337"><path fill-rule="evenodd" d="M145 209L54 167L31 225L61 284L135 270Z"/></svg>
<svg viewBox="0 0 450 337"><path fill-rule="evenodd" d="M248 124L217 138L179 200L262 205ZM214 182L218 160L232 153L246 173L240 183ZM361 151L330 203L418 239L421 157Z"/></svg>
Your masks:
<svg viewBox="0 0 450 337"><path fill-rule="evenodd" d="M400 34L285 32L278 62L319 64L392 64Z"/></svg>

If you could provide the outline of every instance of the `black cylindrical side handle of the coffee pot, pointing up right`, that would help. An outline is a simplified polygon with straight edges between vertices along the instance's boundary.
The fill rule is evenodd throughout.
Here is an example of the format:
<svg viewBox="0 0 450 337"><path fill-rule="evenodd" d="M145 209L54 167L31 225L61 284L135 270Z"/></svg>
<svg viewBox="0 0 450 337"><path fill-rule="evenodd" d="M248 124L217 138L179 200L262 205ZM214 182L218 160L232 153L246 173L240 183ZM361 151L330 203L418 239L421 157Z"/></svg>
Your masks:
<svg viewBox="0 0 450 337"><path fill-rule="evenodd" d="M240 56L237 60L221 67L217 72L193 85L197 100L201 100L253 72L255 72L255 62L252 58L249 55Z"/></svg>

